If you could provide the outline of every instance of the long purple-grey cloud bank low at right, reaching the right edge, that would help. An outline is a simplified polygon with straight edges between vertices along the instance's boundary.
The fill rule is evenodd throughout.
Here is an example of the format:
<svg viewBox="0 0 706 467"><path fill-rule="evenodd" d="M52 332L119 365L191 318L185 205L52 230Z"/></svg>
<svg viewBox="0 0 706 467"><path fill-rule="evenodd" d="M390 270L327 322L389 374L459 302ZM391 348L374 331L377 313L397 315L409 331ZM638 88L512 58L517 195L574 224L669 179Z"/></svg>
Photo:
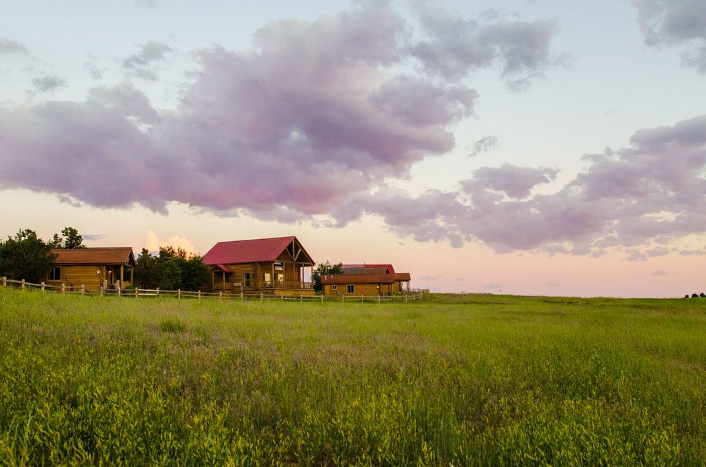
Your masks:
<svg viewBox="0 0 706 467"><path fill-rule="evenodd" d="M454 246L479 240L501 252L594 256L622 248L645 260L706 231L706 115L636 131L630 142L586 157L587 169L551 195L532 188L554 169L504 164L478 169L457 191L359 194L333 217L345 224L377 214L403 236Z"/></svg>

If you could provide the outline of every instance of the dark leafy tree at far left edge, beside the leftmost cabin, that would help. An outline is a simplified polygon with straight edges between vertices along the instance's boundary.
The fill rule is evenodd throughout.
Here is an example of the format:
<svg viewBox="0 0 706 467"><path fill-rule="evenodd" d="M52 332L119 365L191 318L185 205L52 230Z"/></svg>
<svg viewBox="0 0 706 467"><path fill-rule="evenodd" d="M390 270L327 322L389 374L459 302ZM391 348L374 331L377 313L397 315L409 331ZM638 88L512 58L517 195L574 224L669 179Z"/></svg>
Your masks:
<svg viewBox="0 0 706 467"><path fill-rule="evenodd" d="M30 229L18 231L14 238L8 236L0 242L0 276L35 284L46 280L56 260L51 250L52 245Z"/></svg>

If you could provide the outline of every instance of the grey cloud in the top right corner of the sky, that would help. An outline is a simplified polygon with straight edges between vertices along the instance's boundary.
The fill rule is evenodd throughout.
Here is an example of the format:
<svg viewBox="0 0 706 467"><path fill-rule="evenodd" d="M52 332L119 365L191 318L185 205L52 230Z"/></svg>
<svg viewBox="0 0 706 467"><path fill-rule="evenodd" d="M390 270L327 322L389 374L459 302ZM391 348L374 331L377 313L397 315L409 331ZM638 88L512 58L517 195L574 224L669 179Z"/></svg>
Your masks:
<svg viewBox="0 0 706 467"><path fill-rule="evenodd" d="M681 46L684 66L706 73L706 3L702 0L633 0L645 43Z"/></svg>

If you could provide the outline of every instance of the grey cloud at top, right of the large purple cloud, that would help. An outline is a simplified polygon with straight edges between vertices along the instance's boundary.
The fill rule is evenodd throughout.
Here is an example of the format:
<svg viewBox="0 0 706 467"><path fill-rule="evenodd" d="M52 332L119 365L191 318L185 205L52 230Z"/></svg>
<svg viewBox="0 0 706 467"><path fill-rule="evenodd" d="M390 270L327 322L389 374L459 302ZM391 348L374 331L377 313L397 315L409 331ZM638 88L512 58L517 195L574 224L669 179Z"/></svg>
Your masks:
<svg viewBox="0 0 706 467"><path fill-rule="evenodd" d="M441 1L414 0L425 40L412 46L423 68L446 80L457 80L479 68L498 65L513 89L530 85L560 59L551 54L557 28L549 21L506 20L479 23L449 11Z"/></svg>

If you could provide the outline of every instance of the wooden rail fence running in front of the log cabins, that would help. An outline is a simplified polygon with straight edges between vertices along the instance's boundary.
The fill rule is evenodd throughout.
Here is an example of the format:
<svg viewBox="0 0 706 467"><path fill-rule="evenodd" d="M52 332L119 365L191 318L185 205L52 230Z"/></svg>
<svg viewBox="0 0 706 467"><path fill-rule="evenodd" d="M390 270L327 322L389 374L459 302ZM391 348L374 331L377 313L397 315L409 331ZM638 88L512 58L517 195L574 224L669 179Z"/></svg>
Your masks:
<svg viewBox="0 0 706 467"><path fill-rule="evenodd" d="M100 295L100 296L120 296L120 297L171 297L171 298L217 298L219 300L259 300L259 301L312 301L312 302L357 302L357 303L388 303L388 302L414 302L421 301L424 298L424 293L429 293L429 289L409 289L402 291L400 295L392 296L324 296L322 295L285 295L272 293L223 293L219 292L202 292L202 291L182 291L182 290L160 290L160 289L103 289L90 290L86 286L52 286L49 284L32 284L24 279L16 281L3 277L1 285L4 287L16 287L20 289L39 289L41 291L51 291L54 293L73 293L80 295Z"/></svg>

